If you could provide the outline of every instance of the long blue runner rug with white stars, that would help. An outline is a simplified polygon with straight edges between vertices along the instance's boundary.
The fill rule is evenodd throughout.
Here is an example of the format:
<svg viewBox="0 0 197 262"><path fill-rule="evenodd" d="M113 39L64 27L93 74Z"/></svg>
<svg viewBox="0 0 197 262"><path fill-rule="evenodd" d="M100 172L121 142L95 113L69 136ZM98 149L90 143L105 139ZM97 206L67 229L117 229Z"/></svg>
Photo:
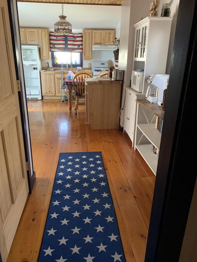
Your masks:
<svg viewBox="0 0 197 262"><path fill-rule="evenodd" d="M38 262L125 262L101 152L60 153Z"/></svg>

